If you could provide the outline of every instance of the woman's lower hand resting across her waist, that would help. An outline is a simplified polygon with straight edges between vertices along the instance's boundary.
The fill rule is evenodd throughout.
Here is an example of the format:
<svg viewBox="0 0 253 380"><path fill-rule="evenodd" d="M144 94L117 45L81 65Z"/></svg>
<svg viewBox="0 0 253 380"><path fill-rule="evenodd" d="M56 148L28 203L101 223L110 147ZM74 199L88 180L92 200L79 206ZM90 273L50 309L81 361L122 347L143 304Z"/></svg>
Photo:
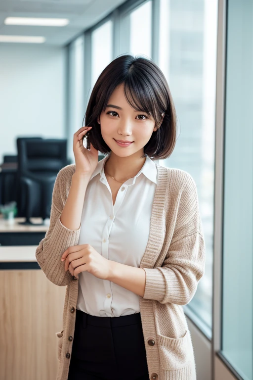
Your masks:
<svg viewBox="0 0 253 380"><path fill-rule="evenodd" d="M98 279L106 280L109 276L110 260L105 259L90 244L73 245L63 252L61 260L65 260L65 272L72 276L87 271Z"/></svg>

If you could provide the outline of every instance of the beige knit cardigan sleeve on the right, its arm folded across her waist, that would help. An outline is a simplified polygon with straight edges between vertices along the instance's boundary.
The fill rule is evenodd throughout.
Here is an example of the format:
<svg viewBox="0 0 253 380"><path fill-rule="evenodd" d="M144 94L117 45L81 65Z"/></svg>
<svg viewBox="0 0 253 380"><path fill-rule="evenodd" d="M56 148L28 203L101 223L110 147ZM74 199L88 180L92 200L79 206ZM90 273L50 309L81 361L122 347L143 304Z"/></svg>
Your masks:
<svg viewBox="0 0 253 380"><path fill-rule="evenodd" d="M146 272L144 299L186 305L205 272L205 241L196 184L188 174L178 205L174 232L162 267Z"/></svg>

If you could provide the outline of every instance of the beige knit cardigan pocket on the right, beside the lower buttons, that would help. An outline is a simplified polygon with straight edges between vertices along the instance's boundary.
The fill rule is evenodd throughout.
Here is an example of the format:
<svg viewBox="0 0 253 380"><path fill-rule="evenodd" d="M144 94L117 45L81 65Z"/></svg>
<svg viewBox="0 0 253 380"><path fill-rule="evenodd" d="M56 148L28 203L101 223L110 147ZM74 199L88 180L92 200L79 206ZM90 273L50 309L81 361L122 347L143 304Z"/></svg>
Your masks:
<svg viewBox="0 0 253 380"><path fill-rule="evenodd" d="M191 360L188 330L177 339L157 334L157 345L163 370L178 370Z"/></svg>

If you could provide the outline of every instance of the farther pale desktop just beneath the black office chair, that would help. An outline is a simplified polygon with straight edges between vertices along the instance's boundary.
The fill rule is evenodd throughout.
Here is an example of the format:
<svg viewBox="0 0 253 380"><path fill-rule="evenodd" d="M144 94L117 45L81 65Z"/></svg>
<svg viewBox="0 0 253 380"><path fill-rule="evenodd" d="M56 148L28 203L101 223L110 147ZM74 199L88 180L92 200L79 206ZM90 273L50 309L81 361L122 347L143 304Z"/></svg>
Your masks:
<svg viewBox="0 0 253 380"><path fill-rule="evenodd" d="M14 224L9 225L6 219L0 215L0 233L1 232L46 232L48 226L25 226L18 224L18 222L24 222L26 218L14 218ZM33 223L42 223L42 218L31 218Z"/></svg>

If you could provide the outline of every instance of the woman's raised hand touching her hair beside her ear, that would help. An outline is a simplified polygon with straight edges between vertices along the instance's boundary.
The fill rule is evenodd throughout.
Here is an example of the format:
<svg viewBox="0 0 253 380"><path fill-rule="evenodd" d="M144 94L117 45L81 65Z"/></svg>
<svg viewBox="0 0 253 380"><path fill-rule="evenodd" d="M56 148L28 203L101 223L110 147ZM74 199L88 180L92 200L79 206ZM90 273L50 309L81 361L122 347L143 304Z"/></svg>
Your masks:
<svg viewBox="0 0 253 380"><path fill-rule="evenodd" d="M76 171L87 177L91 177L98 163L98 150L90 143L90 150L83 145L84 135L90 131L92 127L82 127L74 134L73 151L76 161Z"/></svg>

